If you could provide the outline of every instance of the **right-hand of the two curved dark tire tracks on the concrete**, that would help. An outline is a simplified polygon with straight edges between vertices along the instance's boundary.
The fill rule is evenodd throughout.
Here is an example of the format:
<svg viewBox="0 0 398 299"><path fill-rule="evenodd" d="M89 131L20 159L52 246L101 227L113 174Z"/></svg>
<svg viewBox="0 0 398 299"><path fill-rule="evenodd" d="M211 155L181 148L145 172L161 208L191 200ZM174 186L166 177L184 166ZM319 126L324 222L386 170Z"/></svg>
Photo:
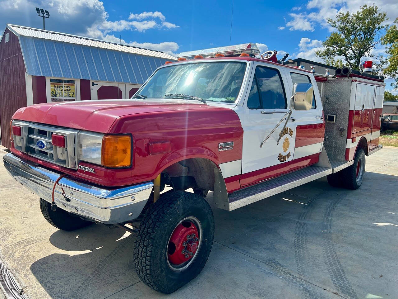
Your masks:
<svg viewBox="0 0 398 299"><path fill-rule="evenodd" d="M323 238L322 245L324 247L324 260L325 264L328 266L330 278L332 279L333 285L342 293L344 297L357 298L351 283L348 280L347 275L341 265L339 260L336 247L333 242L332 235L332 219L334 211L339 203L345 199L348 195L340 197L332 201L326 208L323 216L323 230L325 232L325 237Z"/></svg>

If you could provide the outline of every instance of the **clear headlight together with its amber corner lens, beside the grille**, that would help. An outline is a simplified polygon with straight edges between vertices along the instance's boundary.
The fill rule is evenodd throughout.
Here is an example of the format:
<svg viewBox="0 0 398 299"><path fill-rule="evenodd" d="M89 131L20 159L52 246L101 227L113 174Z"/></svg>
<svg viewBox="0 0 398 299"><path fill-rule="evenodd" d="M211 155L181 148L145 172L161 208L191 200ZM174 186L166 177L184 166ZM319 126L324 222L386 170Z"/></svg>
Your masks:
<svg viewBox="0 0 398 299"><path fill-rule="evenodd" d="M131 136L78 133L78 159L106 167L131 165Z"/></svg>

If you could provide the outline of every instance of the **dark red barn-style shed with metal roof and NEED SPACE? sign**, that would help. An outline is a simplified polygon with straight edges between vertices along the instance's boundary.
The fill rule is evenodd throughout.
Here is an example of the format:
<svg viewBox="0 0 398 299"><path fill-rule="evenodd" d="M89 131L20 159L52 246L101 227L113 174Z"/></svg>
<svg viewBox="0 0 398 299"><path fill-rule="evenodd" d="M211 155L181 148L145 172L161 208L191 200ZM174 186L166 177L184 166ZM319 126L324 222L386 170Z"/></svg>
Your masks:
<svg viewBox="0 0 398 299"><path fill-rule="evenodd" d="M10 148L10 119L20 107L127 99L157 67L175 60L161 51L7 24L0 40L2 145Z"/></svg>

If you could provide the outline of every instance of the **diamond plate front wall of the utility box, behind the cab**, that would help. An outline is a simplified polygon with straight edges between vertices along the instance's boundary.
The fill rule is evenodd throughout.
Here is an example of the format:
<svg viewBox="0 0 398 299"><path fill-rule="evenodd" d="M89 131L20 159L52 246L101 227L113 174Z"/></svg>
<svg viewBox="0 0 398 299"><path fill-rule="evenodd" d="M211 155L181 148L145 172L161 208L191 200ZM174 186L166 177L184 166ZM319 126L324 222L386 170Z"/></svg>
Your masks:
<svg viewBox="0 0 398 299"><path fill-rule="evenodd" d="M345 160L348 112L351 97L351 78L330 78L324 82L324 114L336 115L336 122L326 122L324 146L329 159ZM339 128L345 128L340 136Z"/></svg>

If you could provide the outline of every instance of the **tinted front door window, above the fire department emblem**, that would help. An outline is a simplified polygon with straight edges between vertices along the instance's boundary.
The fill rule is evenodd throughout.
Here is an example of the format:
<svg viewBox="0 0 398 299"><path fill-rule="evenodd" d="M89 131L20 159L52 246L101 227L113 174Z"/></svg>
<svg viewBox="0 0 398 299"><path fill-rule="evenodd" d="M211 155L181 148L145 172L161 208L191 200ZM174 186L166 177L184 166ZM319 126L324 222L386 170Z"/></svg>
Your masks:
<svg viewBox="0 0 398 299"><path fill-rule="evenodd" d="M286 109L282 78L276 69L256 67L248 97L249 109Z"/></svg>

